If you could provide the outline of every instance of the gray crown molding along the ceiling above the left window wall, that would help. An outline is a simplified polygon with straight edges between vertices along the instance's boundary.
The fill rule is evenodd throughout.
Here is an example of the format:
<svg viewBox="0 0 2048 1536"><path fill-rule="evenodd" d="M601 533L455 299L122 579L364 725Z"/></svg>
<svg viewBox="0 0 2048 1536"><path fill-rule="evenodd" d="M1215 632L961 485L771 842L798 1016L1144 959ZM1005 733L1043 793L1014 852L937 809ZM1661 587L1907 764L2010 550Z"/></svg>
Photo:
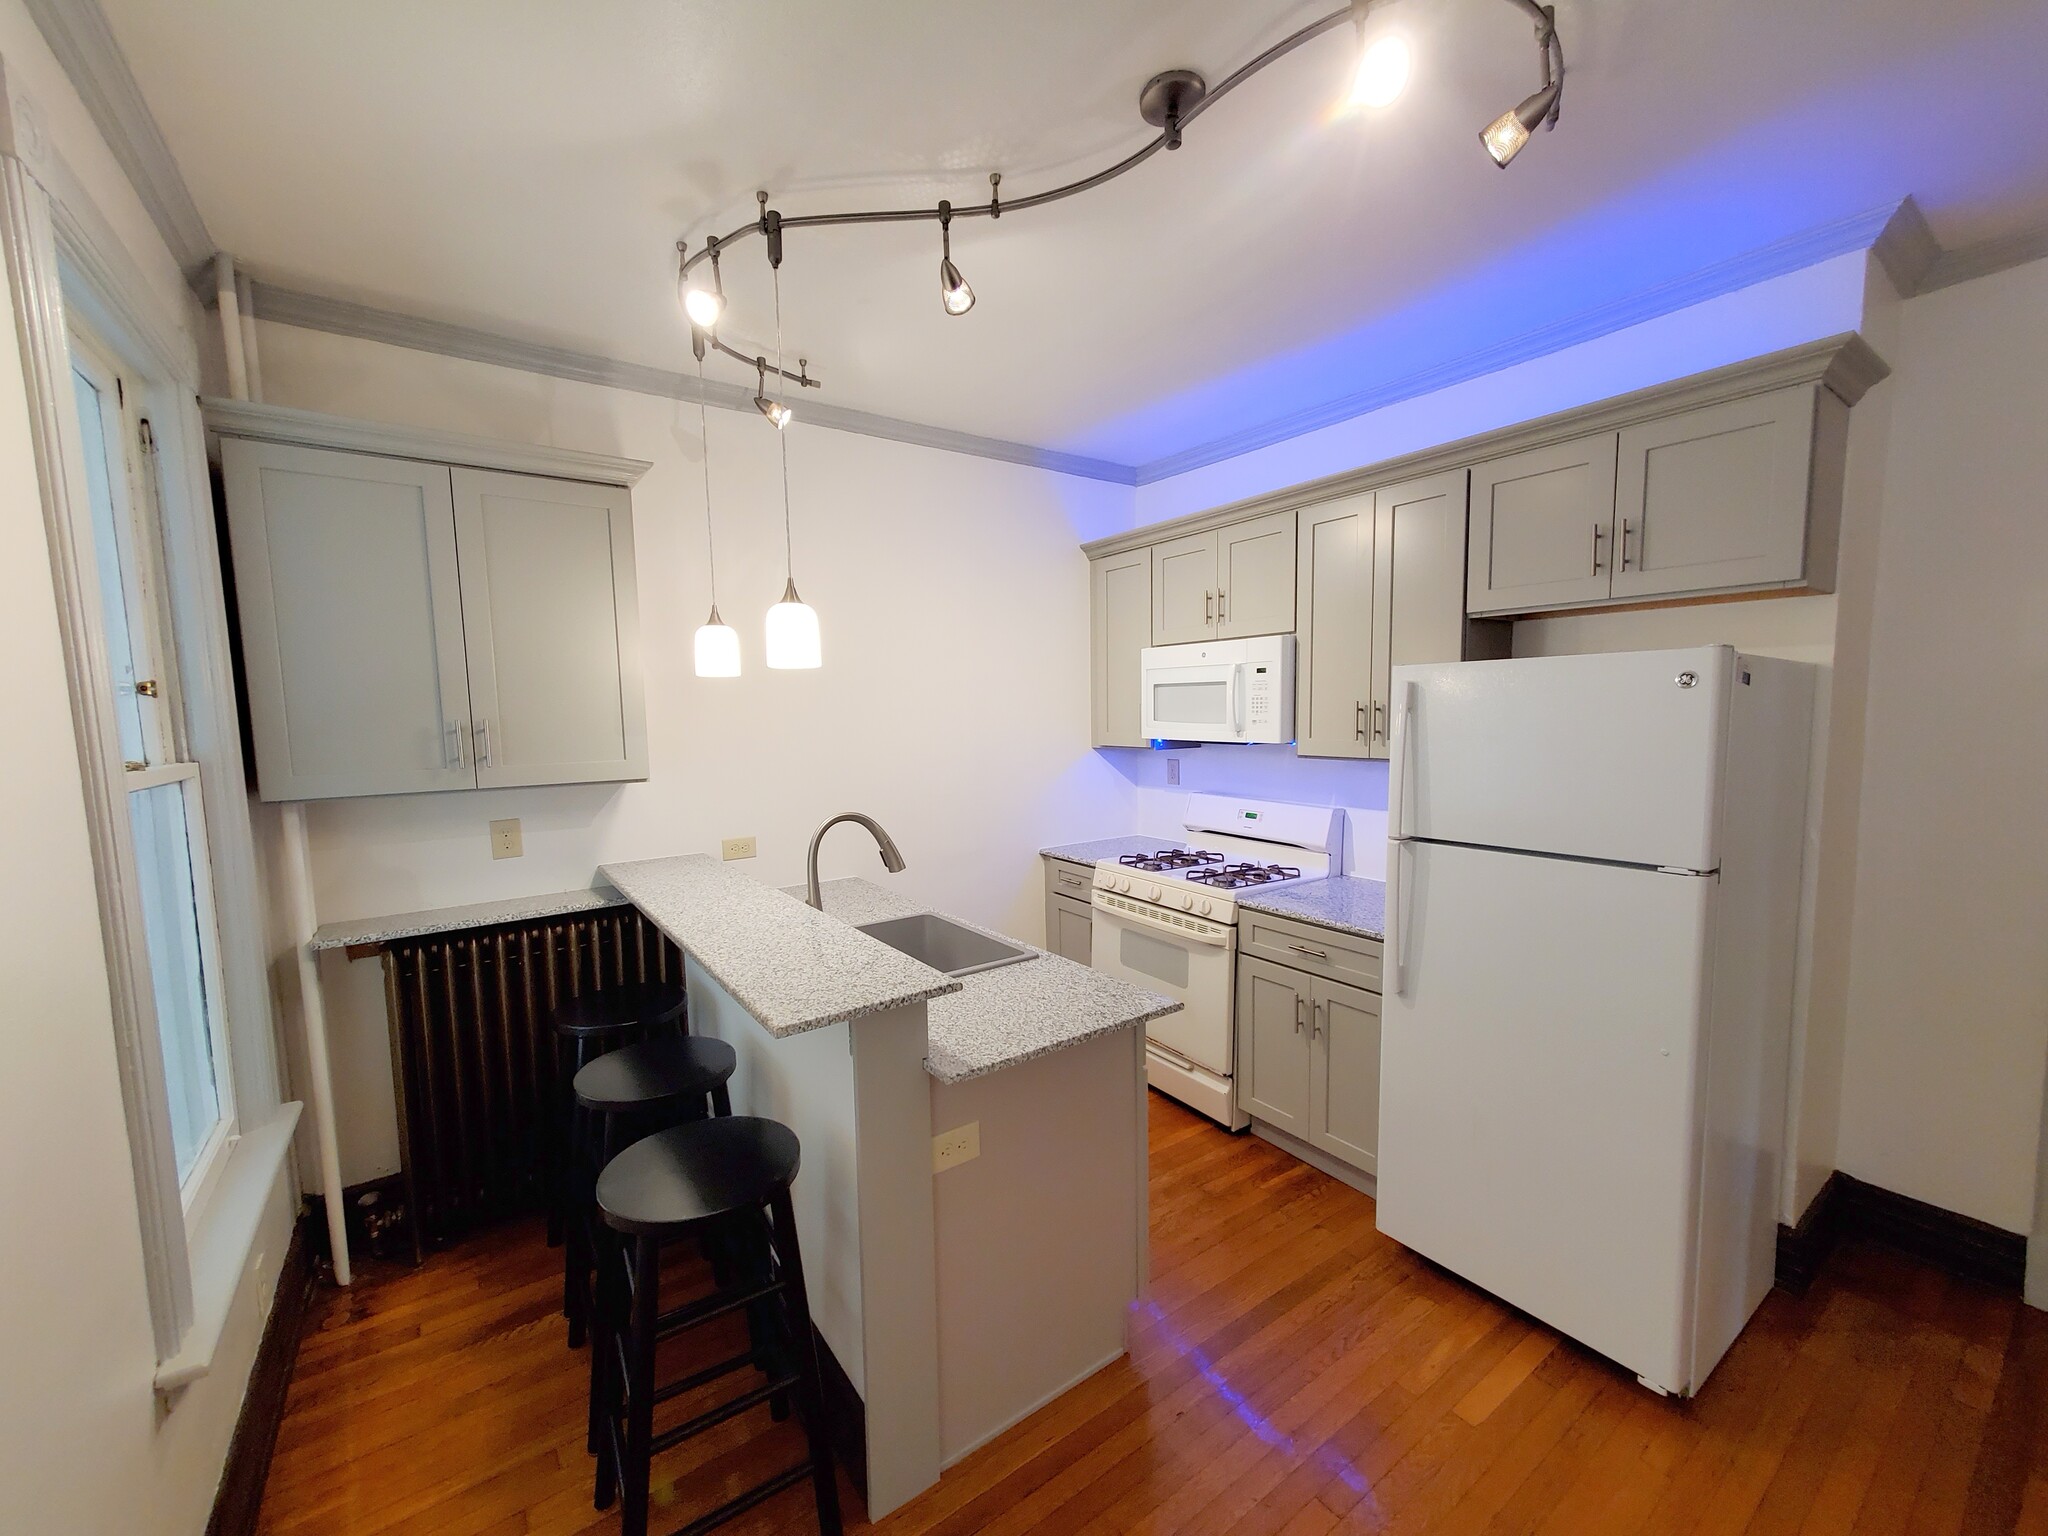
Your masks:
<svg viewBox="0 0 2048 1536"><path fill-rule="evenodd" d="M49 51L57 55L72 88L86 102L94 127L127 172L178 268L193 276L213 260L207 221L184 184L150 102L115 41L115 29L96 0L23 0Z"/></svg>

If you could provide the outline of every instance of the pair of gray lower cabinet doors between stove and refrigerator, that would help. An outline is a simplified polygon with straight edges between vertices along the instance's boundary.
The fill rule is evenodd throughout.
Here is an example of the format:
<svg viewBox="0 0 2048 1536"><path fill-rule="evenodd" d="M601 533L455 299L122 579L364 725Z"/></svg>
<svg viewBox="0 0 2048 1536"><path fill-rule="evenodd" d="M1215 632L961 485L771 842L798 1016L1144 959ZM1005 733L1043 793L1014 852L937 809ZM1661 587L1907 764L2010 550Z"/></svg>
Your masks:
<svg viewBox="0 0 2048 1536"><path fill-rule="evenodd" d="M1237 1106L1253 1120L1374 1174L1378 993L1241 954Z"/></svg>

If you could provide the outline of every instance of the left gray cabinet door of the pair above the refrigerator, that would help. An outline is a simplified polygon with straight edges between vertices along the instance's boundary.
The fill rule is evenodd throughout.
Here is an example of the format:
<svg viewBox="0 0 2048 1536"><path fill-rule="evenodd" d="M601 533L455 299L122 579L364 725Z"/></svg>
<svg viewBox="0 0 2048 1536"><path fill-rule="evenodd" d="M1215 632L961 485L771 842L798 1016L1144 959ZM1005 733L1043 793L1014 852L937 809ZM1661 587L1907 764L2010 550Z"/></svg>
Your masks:
<svg viewBox="0 0 2048 1536"><path fill-rule="evenodd" d="M1473 469L1466 612L1604 602L1614 571L1614 432Z"/></svg>

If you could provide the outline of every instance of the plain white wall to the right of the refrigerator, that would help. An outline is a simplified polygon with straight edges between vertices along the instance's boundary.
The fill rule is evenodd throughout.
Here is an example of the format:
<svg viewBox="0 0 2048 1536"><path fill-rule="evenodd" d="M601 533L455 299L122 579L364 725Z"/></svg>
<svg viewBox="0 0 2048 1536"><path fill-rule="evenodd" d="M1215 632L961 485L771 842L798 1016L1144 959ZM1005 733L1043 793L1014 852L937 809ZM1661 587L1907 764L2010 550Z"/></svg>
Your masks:
<svg viewBox="0 0 2048 1536"><path fill-rule="evenodd" d="M1903 305L1841 1167L2034 1225L2048 1063L2048 262Z"/></svg>

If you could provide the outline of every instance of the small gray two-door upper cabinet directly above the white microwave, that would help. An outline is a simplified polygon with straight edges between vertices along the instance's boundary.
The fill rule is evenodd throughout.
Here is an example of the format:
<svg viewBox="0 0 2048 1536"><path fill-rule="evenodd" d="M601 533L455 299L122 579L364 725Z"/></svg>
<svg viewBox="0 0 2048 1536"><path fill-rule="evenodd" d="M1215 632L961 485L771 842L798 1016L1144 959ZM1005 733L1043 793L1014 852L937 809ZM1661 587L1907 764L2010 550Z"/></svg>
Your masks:
<svg viewBox="0 0 2048 1536"><path fill-rule="evenodd" d="M1151 547L1153 645L1294 629L1294 514L1268 512Z"/></svg>

